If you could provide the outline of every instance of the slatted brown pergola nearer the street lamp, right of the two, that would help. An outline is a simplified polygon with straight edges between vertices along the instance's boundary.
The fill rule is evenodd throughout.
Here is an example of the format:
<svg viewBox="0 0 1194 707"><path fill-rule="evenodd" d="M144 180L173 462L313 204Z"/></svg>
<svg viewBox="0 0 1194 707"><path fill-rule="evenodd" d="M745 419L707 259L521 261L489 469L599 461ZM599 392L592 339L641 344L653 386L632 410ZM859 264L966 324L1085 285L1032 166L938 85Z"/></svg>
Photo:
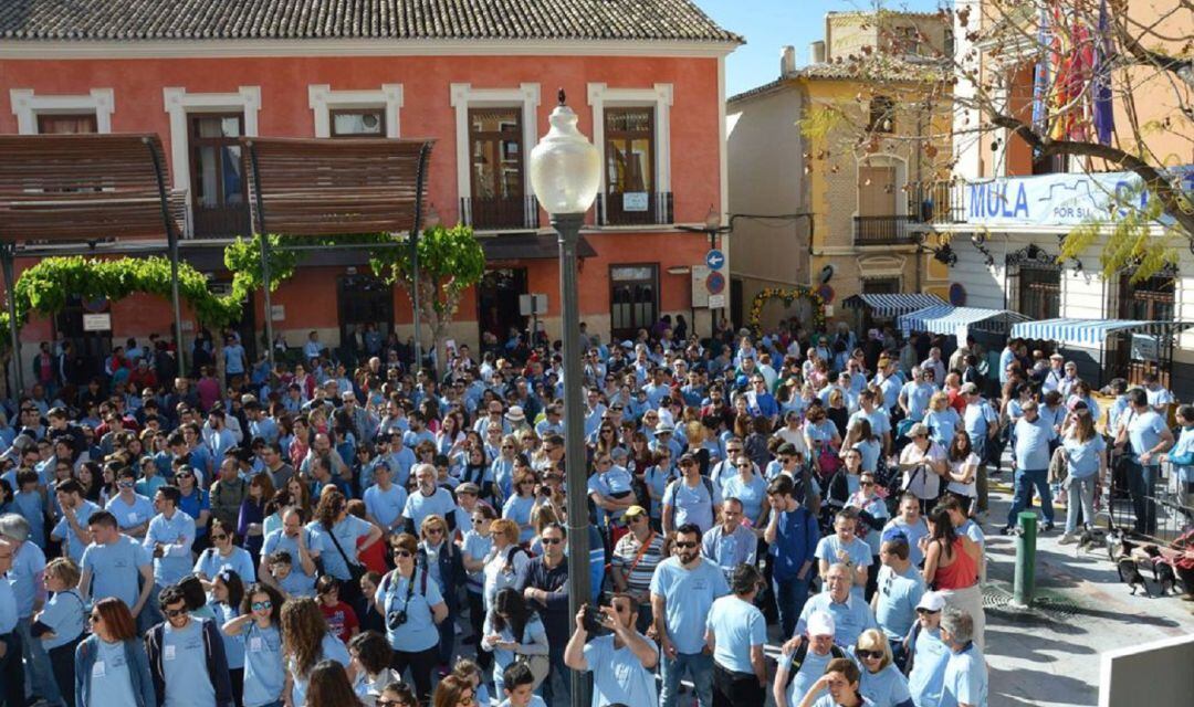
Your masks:
<svg viewBox="0 0 1194 707"><path fill-rule="evenodd" d="M418 234L433 141L244 137L253 230L261 234L265 339L273 362L267 234L332 236L410 232L406 243L290 246L289 249L373 249L408 246L418 279ZM419 354L419 289L414 293L414 365Z"/></svg>

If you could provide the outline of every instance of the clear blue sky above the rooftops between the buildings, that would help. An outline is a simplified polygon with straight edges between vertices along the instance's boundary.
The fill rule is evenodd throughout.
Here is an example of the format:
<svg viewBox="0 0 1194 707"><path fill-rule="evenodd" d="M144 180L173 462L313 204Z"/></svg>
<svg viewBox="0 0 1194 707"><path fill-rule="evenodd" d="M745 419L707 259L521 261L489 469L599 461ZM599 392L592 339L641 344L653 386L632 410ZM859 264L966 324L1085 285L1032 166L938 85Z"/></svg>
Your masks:
<svg viewBox="0 0 1194 707"><path fill-rule="evenodd" d="M869 10L870 0L694 0L722 27L746 38L726 62L726 95L774 81L780 48L796 48L796 66L808 63L808 43L824 39L825 13ZM930 11L938 0L887 0L888 10Z"/></svg>

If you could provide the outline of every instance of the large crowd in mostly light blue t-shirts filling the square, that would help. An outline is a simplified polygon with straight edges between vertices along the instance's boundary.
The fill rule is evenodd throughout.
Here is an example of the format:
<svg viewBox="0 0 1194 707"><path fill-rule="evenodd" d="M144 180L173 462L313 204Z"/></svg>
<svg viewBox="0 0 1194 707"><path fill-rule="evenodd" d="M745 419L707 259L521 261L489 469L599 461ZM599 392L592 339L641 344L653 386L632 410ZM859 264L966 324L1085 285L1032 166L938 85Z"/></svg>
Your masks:
<svg viewBox="0 0 1194 707"><path fill-rule="evenodd" d="M1003 532L1035 491L1072 540L1116 445L1141 531L1164 454L1194 482L1194 409L1174 446L1165 391L1121 386L1104 438L1090 386L1021 341L987 376L973 342L844 324L583 334L583 391L546 342L433 373L367 335L251 365L229 331L193 379L155 339L82 380L47 343L0 418L0 705L549 706L579 672L595 707L977 707L1003 448Z"/></svg>

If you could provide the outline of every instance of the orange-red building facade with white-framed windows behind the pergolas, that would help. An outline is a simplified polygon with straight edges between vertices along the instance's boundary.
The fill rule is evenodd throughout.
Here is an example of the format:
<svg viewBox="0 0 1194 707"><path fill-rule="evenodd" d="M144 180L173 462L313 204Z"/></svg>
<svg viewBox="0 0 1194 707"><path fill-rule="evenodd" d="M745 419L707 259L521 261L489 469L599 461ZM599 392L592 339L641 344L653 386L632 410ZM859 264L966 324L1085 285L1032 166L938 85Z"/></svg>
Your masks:
<svg viewBox="0 0 1194 707"><path fill-rule="evenodd" d="M235 137L432 138L426 200L442 223L473 225L487 255L486 278L449 331L475 351L485 331L504 341L512 327L527 328L524 293L547 294L540 321L559 335L555 235L534 200L527 157L562 88L605 156L581 244L589 331L628 337L670 312L708 334L708 310L693 309L689 268L703 263L709 237L677 227L703 225L710 206L726 212L725 57L739 39L720 32L670 42L5 42L0 134L159 135L168 182L186 204L181 256L214 287L230 279L223 244L248 228ZM18 273L35 262L18 255ZM241 330L259 342L265 312L253 299ZM171 333L168 303L134 296L74 303L55 321L30 322L21 339L81 336L81 314L97 306L112 314L101 337ZM367 322L406 340L411 312L401 289L374 280L362 254L344 252L304 258L273 293L271 314L290 346L316 330L334 347ZM184 312L184 333L193 327ZM25 358L33 353L25 347Z"/></svg>

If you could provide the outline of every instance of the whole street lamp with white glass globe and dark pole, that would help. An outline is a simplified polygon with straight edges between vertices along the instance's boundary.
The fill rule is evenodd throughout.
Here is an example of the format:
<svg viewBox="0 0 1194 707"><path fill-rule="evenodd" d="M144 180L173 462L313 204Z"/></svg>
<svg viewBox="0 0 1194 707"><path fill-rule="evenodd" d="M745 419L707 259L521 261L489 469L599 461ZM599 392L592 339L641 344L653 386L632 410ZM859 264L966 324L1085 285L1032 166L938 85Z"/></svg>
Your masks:
<svg viewBox="0 0 1194 707"><path fill-rule="evenodd" d="M568 513L568 610L577 615L589 601L589 508L585 488L584 411L581 410L580 304L577 292L577 242L585 212L597 198L601 155L577 130L577 114L565 104L552 111L552 128L530 153L530 181L552 217L560 242L560 303L564 330L564 440ZM587 707L587 681L571 672L572 705Z"/></svg>

